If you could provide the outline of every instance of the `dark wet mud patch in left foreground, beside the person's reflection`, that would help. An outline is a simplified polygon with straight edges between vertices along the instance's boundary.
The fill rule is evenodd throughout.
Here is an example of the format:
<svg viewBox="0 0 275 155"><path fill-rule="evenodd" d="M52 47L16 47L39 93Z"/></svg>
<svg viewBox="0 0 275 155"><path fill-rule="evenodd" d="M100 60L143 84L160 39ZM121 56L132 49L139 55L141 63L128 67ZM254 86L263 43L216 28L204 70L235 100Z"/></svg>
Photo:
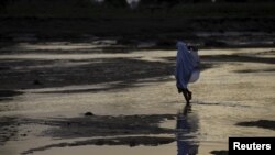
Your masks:
<svg viewBox="0 0 275 155"><path fill-rule="evenodd" d="M161 136L161 134L174 134L174 129L160 128L158 124L165 120L175 120L176 114L152 114L152 115L96 115L87 112L79 118L1 118L0 143L4 144L10 139L19 136L28 137L29 133L18 135L14 131L16 125L41 124L50 126L40 136L54 139L87 137L84 141L63 142L50 144L36 148L30 148L22 154L45 151L52 147L84 146L84 145L150 145L157 146L175 142L173 136ZM16 120L16 121L13 121ZM102 136L102 137L99 137ZM110 137L111 136L111 137Z"/></svg>

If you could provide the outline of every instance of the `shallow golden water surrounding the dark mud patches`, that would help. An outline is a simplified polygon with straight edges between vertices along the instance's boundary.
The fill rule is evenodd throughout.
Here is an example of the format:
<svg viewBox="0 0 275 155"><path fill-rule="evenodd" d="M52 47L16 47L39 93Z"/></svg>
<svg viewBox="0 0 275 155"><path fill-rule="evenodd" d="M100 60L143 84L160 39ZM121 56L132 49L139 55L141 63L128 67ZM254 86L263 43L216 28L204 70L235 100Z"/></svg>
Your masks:
<svg viewBox="0 0 275 155"><path fill-rule="evenodd" d="M18 49L19 53L1 55L0 59L23 59L29 62L36 59L57 60L57 64L33 64L29 68L51 68L61 65L68 68L72 66L81 68L81 65L87 63L85 59L95 58L133 58L144 62L172 63L173 66L173 60L169 60L169 58L176 55L175 51L145 49L120 54L98 54L92 53L94 46L80 45L84 48L90 47L91 53L35 54L32 51L30 54L20 54L20 49ZM72 47L76 49L75 47L78 48L80 45L72 45ZM37 45L31 47L40 49ZM51 44L43 45L42 47L50 51L56 49L56 44L54 47ZM67 47L64 48L67 49ZM34 151L33 154L108 155L123 153L161 155L177 154L179 145L186 145L185 147L190 145L190 147L197 150L198 154L206 155L210 154L211 151L227 150L229 136L274 136L274 48L202 49L199 54L201 62L210 64L211 67L201 73L198 82L190 85L194 99L191 108L187 113L184 112L184 98L177 93L175 88L175 78L169 74L173 70L168 70L168 74L164 74L161 77L134 79L131 84L124 82L125 79L121 79L98 84L73 84L57 87L19 89L19 91L23 92L22 95L0 100L0 118L14 118L13 121L10 121L11 124L3 125L0 129L1 135L9 137L0 146L0 154L15 155L51 144L74 143L85 141L82 139L95 137L82 137L78 136L78 134L75 137L53 137L44 132L55 131L58 126L46 123L25 123L28 121L24 121L28 118L40 118L45 122L51 118L77 118L84 115L87 111L96 115L138 115L138 118L141 115L150 117L152 114L174 114L176 115L175 119L164 119L161 121L160 126L175 130L172 133L165 133L165 136L173 137L175 141L157 146L138 145L134 147L128 145L94 145L91 143L81 145L81 143L77 143L76 146L66 144L69 145L67 147L56 145ZM77 62L66 62L72 59L77 59ZM24 69L24 66L21 67ZM144 71L150 75L148 70ZM127 75L127 73L121 74ZM2 89L1 86L0 89ZM6 122L1 121L2 124ZM242 124L243 122L250 122L252 125L238 125L238 123ZM266 128L263 124L266 122L272 128ZM177 123L183 124L182 129L176 129L178 126ZM79 130L81 129L79 128ZM154 131L151 132L154 137L163 136L162 134L155 134ZM121 135L125 136L124 133L121 133ZM134 134L134 136L138 135L140 134ZM179 145L177 142L180 142L178 143Z"/></svg>

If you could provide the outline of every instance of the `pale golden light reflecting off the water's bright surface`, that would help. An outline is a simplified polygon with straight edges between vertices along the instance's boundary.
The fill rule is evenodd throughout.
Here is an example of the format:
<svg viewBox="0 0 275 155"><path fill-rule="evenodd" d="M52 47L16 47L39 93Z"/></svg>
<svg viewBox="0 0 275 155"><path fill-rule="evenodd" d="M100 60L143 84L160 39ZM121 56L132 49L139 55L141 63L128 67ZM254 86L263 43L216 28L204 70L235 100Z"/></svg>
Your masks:
<svg viewBox="0 0 275 155"><path fill-rule="evenodd" d="M52 49L52 48L48 48ZM238 55L239 53L257 57L258 52L266 52L271 48L246 48L246 49L205 49L201 55ZM175 51L146 51L123 54L22 54L1 55L1 59L88 59L108 57L138 57L146 60L163 60L164 57L175 56ZM274 57L258 55L258 57ZM202 59L204 62L204 59ZM184 135L195 135L195 139L180 139L176 134L172 144L151 146L77 146L66 148L52 148L37 154L180 154L186 147L194 147L198 153L209 154L212 150L227 148L228 136L271 136L274 130L261 126L238 126L239 122L272 120L274 111L274 71L257 71L261 69L274 69L274 64L254 62L215 62L213 68L202 73L197 84L190 86L194 91L194 103L191 113L178 113L178 120L168 121L163 126L184 128L191 125L195 132L186 132ZM67 64L68 67L72 64ZM252 69L250 73L238 73L237 70ZM22 90L24 93L14 96L10 100L0 101L1 117L76 117L87 111L96 114L108 115L131 115L172 113L176 114L184 108L184 98L175 89L175 79L167 76L166 81L158 81L156 78L143 79L134 84L139 87L98 91L113 84L106 82L97 85L67 86L43 89ZM78 93L75 93L77 90ZM95 91L85 91L95 90ZM67 93L58 93L66 91ZM187 121L187 122L185 122ZM177 124L178 123L178 124ZM184 126L180 126L184 124ZM33 126L24 126L33 128ZM195 133L195 134L193 134ZM177 139L179 137L179 139ZM30 137L29 137L30 139ZM23 142L41 141L43 137L33 136L32 140L11 140L4 148L16 147L20 150ZM73 140L74 141L74 140ZM47 143L55 143L48 140ZM35 144L35 143L34 143ZM3 147L0 148L0 153ZM25 148L24 148L25 150ZM178 152L177 152L178 151ZM2 151L3 152L3 151ZM184 153L182 153L184 154Z"/></svg>

